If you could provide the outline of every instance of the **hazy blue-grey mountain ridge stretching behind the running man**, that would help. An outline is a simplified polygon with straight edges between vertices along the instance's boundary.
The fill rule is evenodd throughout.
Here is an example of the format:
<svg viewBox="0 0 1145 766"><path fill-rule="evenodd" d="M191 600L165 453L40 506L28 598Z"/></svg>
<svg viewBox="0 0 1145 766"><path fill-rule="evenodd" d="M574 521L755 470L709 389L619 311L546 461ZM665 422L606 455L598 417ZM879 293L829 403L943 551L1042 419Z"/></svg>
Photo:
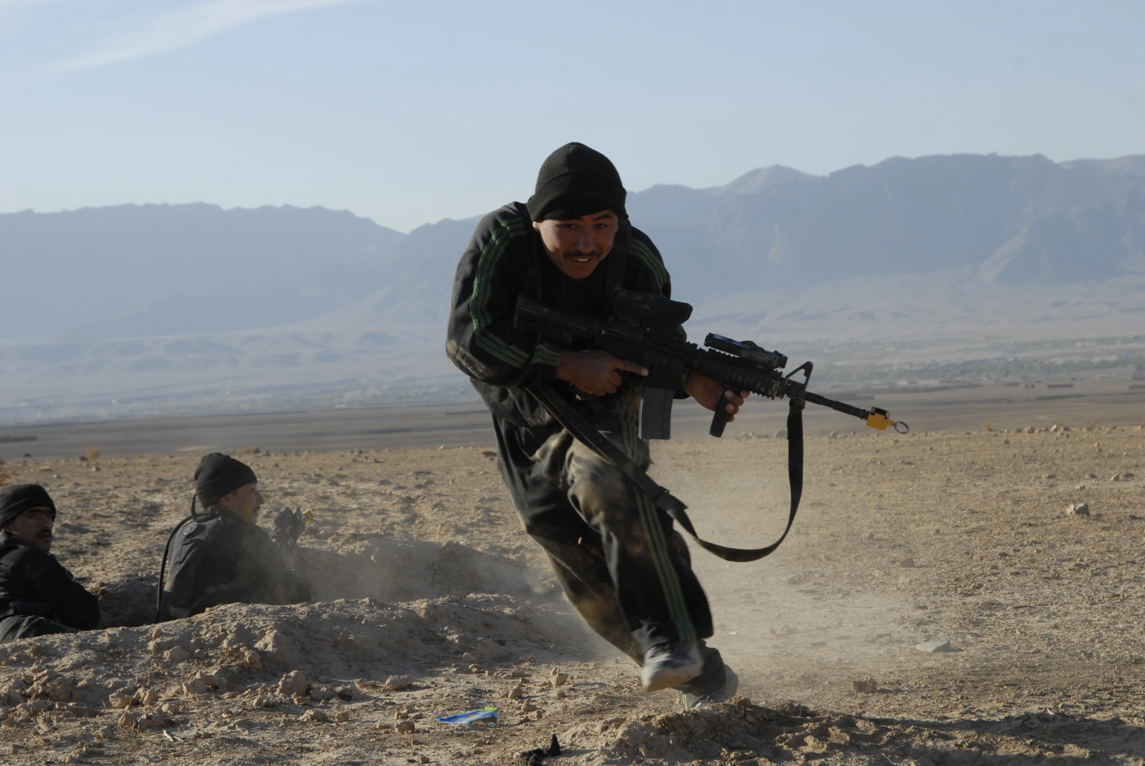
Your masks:
<svg viewBox="0 0 1145 766"><path fill-rule="evenodd" d="M465 390L444 359L444 325L477 218L402 234L348 212L202 205L192 221L226 225L184 222L176 233L185 236L157 240L100 233L101 210L74 226L62 214L0 215L0 269L19 278L8 280L18 300L0 341L0 422ZM1020 356L1039 338L1069 340L1058 357L1039 352L1050 360L1100 346L1101 364L1145 364L1132 356L1135 336L1145 337L1135 322L1145 305L1145 155L889 158L826 176L771 166L722 186L632 192L629 212L660 247L673 297L696 305L694 337L806 348L820 354L820 376L878 375L916 357ZM285 218L291 225L277 229ZM49 237L16 252L7 234L27 220L96 231L98 246L73 238L38 257ZM300 236L299 226L311 229ZM223 242L227 231L256 241ZM119 272L106 268L117 242L143 244ZM238 289L220 289L220 274ZM54 322L55 335L14 334L21 322ZM1120 336L1130 340L1108 340ZM906 338L910 357L878 351L881 337ZM854 359L837 356L839 343L870 351L847 368ZM992 368L984 365L973 369Z"/></svg>

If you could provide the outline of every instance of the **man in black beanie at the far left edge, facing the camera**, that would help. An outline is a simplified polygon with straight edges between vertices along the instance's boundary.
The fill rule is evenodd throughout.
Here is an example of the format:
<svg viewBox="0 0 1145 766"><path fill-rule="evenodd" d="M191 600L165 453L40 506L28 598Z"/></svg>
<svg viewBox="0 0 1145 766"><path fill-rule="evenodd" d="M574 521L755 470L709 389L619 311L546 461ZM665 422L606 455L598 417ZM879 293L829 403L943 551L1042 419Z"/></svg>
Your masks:
<svg viewBox="0 0 1145 766"><path fill-rule="evenodd" d="M92 630L100 603L52 550L56 504L38 484L0 487L0 644Z"/></svg>

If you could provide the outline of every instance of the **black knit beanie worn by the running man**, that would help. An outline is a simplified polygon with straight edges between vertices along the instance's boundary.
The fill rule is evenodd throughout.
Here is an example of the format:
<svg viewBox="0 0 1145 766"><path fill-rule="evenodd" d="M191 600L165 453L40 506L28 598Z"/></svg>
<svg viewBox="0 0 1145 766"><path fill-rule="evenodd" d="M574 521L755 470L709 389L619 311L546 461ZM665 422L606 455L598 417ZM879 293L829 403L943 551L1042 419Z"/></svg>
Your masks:
<svg viewBox="0 0 1145 766"><path fill-rule="evenodd" d="M564 221L611 210L624 218L626 196L613 162L574 142L550 154L540 166L537 190L529 198L529 216L534 221Z"/></svg>

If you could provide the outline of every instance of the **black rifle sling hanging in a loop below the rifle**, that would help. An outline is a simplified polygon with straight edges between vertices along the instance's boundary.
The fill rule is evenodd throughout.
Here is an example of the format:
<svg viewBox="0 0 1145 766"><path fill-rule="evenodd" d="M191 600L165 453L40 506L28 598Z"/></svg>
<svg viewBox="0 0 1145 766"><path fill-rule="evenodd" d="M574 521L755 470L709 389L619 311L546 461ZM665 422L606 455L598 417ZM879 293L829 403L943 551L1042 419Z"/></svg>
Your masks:
<svg viewBox="0 0 1145 766"><path fill-rule="evenodd" d="M696 528L692 526L692 519L688 518L686 510L688 506L678 497L674 497L668 489L656 484L648 476L647 471L632 462L624 454L623 449L609 441L581 413L564 401L548 383L538 383L530 386L528 391L569 433L611 463L637 489L652 501L653 505L676 519L684 527L684 530L692 535L705 551L714 553L725 561L758 561L774 552L780 546L780 543L783 542L783 538L787 537L788 532L791 530L791 525L795 522L795 512L799 509L799 498L803 496L803 400L791 399L791 408L788 412L788 481L791 485L791 510L788 513L788 524L783 529L783 534L766 548L728 548L710 543L697 535Z"/></svg>

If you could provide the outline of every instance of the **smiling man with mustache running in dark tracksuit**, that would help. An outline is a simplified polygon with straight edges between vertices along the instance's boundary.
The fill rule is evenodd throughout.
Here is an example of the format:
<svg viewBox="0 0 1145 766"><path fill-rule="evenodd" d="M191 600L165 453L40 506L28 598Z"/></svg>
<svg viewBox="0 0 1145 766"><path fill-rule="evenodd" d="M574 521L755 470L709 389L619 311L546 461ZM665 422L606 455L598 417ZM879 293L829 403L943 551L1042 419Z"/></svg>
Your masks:
<svg viewBox="0 0 1145 766"><path fill-rule="evenodd" d="M569 601L640 663L646 692L676 688L693 708L728 699L737 679L704 645L711 612L684 538L526 391L552 384L645 468L637 381L647 370L587 342L562 348L514 324L521 294L598 319L608 316L614 286L670 296L660 253L629 223L624 201L607 157L576 143L553 152L528 205L506 205L477 224L453 282L447 353L492 412L502 476ZM733 415L743 404L698 375L679 382L677 398L687 397Z"/></svg>

